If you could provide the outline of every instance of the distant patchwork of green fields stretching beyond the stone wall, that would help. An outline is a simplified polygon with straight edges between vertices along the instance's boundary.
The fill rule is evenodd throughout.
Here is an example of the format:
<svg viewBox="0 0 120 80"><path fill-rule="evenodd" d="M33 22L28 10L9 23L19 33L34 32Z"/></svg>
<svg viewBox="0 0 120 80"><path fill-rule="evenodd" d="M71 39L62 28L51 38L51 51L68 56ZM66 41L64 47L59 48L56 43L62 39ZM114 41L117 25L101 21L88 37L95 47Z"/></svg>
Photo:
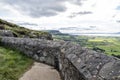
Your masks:
<svg viewBox="0 0 120 80"><path fill-rule="evenodd" d="M120 55L120 37L54 35L53 38L72 41L108 55Z"/></svg>

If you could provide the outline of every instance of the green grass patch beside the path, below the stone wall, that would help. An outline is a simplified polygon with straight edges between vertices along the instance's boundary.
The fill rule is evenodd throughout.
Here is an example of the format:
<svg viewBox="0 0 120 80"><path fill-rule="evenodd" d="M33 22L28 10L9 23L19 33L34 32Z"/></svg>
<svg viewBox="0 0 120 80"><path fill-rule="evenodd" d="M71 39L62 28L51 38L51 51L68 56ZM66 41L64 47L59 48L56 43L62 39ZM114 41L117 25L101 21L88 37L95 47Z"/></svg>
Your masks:
<svg viewBox="0 0 120 80"><path fill-rule="evenodd" d="M0 80L18 80L33 61L17 50L0 46Z"/></svg>

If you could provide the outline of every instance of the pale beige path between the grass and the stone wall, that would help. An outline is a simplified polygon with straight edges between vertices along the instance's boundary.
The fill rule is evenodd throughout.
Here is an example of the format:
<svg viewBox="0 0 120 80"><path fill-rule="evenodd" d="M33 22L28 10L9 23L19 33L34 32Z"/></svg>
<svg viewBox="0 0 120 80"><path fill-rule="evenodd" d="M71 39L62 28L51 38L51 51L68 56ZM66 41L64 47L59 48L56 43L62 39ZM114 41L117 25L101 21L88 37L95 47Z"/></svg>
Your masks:
<svg viewBox="0 0 120 80"><path fill-rule="evenodd" d="M53 67L35 62L19 80L61 80L59 73Z"/></svg>

